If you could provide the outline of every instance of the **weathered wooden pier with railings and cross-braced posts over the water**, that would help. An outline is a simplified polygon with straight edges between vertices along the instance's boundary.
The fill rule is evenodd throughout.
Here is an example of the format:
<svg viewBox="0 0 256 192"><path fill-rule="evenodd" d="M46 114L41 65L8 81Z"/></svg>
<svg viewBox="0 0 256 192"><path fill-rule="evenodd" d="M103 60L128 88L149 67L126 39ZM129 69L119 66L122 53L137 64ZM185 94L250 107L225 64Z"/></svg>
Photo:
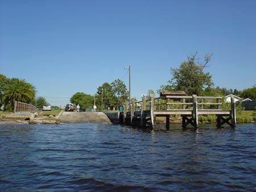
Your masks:
<svg viewBox="0 0 256 192"><path fill-rule="evenodd" d="M149 99L146 96L142 101L125 102L124 111L120 113L119 122L128 126L155 128L155 119L166 117L166 129L170 129L170 116L180 115L182 127L189 124L193 128L199 128L199 115L216 115L217 127L228 124L236 127L236 103L234 98L230 105L230 110L222 110L222 97L187 96L187 95L160 95L154 98L151 94Z"/></svg>

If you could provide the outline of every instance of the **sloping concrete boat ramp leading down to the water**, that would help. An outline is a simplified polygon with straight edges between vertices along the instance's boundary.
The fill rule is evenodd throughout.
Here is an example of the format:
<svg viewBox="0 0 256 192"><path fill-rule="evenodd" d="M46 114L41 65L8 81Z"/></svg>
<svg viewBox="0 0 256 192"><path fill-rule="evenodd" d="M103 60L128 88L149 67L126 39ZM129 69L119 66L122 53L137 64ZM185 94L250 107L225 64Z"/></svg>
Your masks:
<svg viewBox="0 0 256 192"><path fill-rule="evenodd" d="M60 123L111 123L104 112L63 112Z"/></svg>

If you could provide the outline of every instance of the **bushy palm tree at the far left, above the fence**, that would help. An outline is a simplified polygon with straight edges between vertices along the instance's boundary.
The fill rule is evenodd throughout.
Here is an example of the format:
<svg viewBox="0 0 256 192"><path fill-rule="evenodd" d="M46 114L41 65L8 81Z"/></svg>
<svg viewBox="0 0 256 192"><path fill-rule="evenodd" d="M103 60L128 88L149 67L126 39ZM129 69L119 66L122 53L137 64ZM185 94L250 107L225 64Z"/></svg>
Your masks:
<svg viewBox="0 0 256 192"><path fill-rule="evenodd" d="M35 99L35 87L25 80L12 78L6 86L4 101L7 108L13 108L15 101L31 103Z"/></svg>

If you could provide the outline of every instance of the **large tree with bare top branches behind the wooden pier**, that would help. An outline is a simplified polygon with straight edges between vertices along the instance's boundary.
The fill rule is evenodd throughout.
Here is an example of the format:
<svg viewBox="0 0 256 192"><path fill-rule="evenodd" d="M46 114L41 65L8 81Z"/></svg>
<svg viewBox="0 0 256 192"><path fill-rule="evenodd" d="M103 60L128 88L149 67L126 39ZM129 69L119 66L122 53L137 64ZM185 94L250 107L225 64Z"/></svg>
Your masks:
<svg viewBox="0 0 256 192"><path fill-rule="evenodd" d="M169 85L162 85L159 91L179 90L188 95L203 95L205 88L212 87L212 76L203 72L212 55L205 55L204 63L200 63L199 60L196 62L196 54L188 56L188 60L181 63L179 68L171 68Z"/></svg>

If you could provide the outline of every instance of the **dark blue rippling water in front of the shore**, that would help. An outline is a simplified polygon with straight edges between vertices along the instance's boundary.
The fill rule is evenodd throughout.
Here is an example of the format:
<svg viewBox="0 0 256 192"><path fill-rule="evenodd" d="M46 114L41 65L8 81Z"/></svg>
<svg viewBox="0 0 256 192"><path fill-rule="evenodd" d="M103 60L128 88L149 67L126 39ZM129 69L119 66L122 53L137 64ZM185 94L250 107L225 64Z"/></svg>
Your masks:
<svg viewBox="0 0 256 192"><path fill-rule="evenodd" d="M255 191L256 125L0 125L0 191Z"/></svg>

